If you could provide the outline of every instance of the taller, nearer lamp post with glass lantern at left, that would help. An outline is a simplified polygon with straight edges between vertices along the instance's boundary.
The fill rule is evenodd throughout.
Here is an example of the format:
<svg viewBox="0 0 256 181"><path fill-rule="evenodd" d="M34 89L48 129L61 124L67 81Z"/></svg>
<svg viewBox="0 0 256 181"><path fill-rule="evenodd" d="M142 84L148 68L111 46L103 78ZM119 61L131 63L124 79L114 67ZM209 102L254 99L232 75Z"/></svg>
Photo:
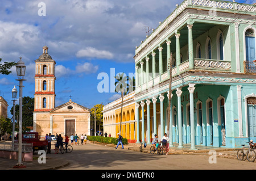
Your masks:
<svg viewBox="0 0 256 181"><path fill-rule="evenodd" d="M24 62L22 61L22 57L19 57L19 61L16 64L16 73L18 75L18 79L16 81L19 81L19 149L18 149L18 163L15 168L24 168L26 166L22 163L22 89L23 89L23 81L26 81L24 79L26 71L26 66Z"/></svg>

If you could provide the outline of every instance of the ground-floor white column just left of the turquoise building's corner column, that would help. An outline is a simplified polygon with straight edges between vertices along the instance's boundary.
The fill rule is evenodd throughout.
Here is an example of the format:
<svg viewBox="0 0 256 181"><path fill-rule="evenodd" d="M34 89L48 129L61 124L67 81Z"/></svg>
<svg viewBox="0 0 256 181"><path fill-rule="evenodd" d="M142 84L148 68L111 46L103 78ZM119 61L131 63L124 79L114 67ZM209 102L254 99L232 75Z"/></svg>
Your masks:
<svg viewBox="0 0 256 181"><path fill-rule="evenodd" d="M178 123L179 123L179 146L177 148L184 148L183 147L183 135L182 135L182 116L181 116L181 87L177 88L177 113L178 113Z"/></svg>

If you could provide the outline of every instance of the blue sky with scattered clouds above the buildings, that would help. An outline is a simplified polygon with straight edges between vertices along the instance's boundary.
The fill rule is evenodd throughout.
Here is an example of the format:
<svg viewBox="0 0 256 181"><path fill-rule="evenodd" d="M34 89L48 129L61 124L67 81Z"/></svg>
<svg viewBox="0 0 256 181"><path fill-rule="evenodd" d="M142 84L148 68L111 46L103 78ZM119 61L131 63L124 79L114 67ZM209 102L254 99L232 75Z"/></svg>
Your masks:
<svg viewBox="0 0 256 181"><path fill-rule="evenodd" d="M34 61L46 45L56 61L56 106L68 102L70 96L73 102L87 108L106 105L120 96L110 91L113 70L115 74L134 73L135 47L146 39L145 27L156 29L181 2L183 0L1 0L0 58L2 62L17 62L22 57L27 79L23 82L23 96L34 97ZM13 105L11 90L14 85L18 89L19 83L15 81L15 68L11 70L10 75L0 75L0 95L9 104L9 117ZM102 73L109 77L109 91L98 90Z"/></svg>

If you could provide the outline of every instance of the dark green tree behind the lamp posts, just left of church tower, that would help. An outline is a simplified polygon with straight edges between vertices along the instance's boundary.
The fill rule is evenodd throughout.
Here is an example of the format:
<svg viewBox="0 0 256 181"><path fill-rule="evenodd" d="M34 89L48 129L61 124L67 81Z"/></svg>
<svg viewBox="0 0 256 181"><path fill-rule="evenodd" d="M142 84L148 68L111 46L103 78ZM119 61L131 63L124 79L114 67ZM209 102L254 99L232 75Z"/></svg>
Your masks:
<svg viewBox="0 0 256 181"><path fill-rule="evenodd" d="M34 100L29 96L23 97L22 99L22 126L32 127L33 126L33 111L34 111ZM10 110L11 115L13 115L13 107ZM15 105L15 120L19 120L19 104Z"/></svg>

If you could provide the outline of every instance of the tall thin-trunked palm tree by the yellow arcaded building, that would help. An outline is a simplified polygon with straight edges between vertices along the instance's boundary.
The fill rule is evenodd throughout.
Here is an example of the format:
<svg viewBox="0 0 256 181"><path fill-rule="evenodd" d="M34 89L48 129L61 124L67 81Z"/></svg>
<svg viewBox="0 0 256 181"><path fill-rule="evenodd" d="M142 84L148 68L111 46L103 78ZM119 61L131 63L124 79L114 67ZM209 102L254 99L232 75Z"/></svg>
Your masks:
<svg viewBox="0 0 256 181"><path fill-rule="evenodd" d="M123 96L135 89L135 78L127 77L125 73L119 73L115 76L115 92L121 92L121 117L120 117L120 134L122 133L122 114L123 114ZM127 83L129 82L129 83Z"/></svg>

